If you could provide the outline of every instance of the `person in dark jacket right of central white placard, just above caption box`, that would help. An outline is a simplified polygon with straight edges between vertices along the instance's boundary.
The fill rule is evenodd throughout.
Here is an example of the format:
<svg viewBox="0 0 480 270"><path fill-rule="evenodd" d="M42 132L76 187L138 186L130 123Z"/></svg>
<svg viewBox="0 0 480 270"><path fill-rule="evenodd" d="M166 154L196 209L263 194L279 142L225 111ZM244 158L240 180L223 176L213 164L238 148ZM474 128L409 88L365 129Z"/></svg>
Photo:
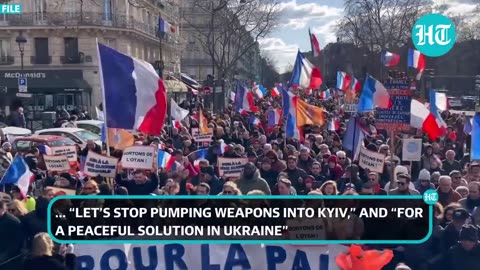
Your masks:
<svg viewBox="0 0 480 270"><path fill-rule="evenodd" d="M236 181L236 184L243 194L247 194L252 190L261 190L267 195L271 194L267 181L260 176L260 172L252 162L245 164L243 173L240 179Z"/></svg>

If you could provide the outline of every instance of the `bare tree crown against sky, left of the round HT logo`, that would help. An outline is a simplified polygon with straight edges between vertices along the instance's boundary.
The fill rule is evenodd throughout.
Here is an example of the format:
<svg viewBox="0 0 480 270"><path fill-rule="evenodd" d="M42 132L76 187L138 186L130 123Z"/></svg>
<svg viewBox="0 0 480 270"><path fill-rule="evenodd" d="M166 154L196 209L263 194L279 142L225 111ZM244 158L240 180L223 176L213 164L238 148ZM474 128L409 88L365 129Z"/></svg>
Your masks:
<svg viewBox="0 0 480 270"><path fill-rule="evenodd" d="M428 0L346 0L337 25L342 41L378 52L408 44L415 21L431 9Z"/></svg>

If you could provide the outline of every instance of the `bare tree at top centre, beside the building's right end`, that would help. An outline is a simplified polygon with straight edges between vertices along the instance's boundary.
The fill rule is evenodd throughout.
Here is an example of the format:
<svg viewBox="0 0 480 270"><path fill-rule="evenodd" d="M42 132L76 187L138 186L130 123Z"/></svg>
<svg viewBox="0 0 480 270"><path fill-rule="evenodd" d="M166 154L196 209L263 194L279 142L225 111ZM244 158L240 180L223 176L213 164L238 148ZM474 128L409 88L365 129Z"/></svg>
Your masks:
<svg viewBox="0 0 480 270"><path fill-rule="evenodd" d="M217 78L232 78L237 62L278 24L277 0L192 1L183 18Z"/></svg>

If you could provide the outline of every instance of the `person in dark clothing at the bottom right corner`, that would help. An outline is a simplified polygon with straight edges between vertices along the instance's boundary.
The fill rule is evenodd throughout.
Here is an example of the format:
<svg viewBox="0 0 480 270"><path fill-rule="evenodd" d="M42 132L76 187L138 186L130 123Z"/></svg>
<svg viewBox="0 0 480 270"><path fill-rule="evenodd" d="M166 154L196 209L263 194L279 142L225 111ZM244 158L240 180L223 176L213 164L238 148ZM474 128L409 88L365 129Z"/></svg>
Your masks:
<svg viewBox="0 0 480 270"><path fill-rule="evenodd" d="M452 246L447 252L444 269L480 269L480 245L478 243L477 227L471 224L463 225L458 239L459 243Z"/></svg>

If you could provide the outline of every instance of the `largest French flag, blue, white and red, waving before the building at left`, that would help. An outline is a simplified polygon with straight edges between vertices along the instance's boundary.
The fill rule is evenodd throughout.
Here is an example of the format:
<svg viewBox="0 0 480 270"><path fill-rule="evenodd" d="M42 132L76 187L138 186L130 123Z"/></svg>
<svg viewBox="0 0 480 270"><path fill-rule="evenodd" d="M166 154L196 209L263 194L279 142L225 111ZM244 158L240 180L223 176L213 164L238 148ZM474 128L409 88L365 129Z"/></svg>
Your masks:
<svg viewBox="0 0 480 270"><path fill-rule="evenodd" d="M98 57L107 127L160 135L167 94L153 66L100 43Z"/></svg>

